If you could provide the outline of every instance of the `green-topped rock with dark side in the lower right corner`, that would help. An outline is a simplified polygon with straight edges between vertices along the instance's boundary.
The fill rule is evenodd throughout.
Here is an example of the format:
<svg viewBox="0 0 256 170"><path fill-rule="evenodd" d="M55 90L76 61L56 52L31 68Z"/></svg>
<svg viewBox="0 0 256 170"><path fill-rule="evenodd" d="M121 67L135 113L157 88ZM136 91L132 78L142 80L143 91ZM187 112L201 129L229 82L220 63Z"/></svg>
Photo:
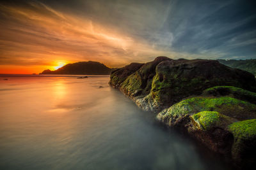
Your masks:
<svg viewBox="0 0 256 170"><path fill-rule="evenodd" d="M255 165L256 161L256 119L235 122L228 126L234 136L232 157L241 166Z"/></svg>

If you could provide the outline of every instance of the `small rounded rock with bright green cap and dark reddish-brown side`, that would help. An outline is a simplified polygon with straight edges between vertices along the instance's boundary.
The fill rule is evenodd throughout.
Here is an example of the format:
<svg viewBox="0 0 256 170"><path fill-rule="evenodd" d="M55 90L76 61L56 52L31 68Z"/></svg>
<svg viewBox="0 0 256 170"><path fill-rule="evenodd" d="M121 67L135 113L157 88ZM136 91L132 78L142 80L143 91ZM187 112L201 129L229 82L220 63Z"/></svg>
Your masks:
<svg viewBox="0 0 256 170"><path fill-rule="evenodd" d="M201 111L191 115L186 124L188 133L214 152L230 155L233 136L227 130L228 125L237 122L218 111Z"/></svg>

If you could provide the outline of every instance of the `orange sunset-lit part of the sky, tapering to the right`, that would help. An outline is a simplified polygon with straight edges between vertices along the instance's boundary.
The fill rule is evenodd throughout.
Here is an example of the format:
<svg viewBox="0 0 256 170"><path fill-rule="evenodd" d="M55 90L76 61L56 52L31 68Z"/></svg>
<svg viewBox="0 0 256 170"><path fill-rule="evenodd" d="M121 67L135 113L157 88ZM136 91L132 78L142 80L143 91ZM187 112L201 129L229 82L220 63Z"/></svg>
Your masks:
<svg viewBox="0 0 256 170"><path fill-rule="evenodd" d="M42 3L0 5L0 73L32 74L67 63L93 60L108 67L145 62L162 55L141 39L86 16L56 11ZM168 53L164 52L165 55ZM54 60L68 62L52 64Z"/></svg>

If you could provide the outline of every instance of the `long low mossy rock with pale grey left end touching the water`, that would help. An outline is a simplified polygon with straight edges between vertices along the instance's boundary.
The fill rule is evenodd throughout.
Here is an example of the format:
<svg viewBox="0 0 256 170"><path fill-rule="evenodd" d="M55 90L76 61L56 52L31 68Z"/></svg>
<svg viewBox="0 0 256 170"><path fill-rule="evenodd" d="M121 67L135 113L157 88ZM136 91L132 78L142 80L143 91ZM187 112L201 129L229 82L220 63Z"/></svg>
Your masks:
<svg viewBox="0 0 256 170"><path fill-rule="evenodd" d="M200 111L218 111L237 120L256 118L256 105L246 101L233 97L192 97L161 111L157 119L173 126L185 115L194 115Z"/></svg>

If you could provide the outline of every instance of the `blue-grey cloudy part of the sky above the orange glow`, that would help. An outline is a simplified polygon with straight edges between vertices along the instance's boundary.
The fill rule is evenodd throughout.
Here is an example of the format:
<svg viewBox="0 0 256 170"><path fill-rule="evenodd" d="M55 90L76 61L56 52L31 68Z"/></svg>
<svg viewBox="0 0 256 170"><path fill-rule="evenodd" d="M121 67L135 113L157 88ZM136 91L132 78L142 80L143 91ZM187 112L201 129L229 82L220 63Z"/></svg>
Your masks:
<svg viewBox="0 0 256 170"><path fill-rule="evenodd" d="M199 57L255 58L255 1L43 2L112 25L152 48Z"/></svg>

